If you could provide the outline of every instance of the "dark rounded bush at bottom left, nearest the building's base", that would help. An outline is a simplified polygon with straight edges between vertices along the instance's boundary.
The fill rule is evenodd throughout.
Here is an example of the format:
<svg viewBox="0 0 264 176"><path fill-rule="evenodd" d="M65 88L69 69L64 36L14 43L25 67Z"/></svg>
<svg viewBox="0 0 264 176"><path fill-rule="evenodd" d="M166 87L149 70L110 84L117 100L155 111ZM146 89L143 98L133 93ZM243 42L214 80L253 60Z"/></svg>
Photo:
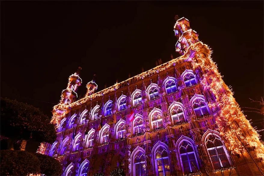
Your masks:
<svg viewBox="0 0 264 176"><path fill-rule="evenodd" d="M61 175L62 168L60 162L51 156L36 153L40 161L40 173L45 175Z"/></svg>

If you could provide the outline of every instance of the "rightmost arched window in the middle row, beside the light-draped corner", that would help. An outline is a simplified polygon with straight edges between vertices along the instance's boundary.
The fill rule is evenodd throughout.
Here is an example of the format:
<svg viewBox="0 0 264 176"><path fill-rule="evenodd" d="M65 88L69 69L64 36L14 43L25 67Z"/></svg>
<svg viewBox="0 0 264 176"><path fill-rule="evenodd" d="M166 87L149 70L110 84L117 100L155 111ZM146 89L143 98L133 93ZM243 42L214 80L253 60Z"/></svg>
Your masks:
<svg viewBox="0 0 264 176"><path fill-rule="evenodd" d="M195 94L190 101L197 118L209 115L209 107L204 96Z"/></svg>

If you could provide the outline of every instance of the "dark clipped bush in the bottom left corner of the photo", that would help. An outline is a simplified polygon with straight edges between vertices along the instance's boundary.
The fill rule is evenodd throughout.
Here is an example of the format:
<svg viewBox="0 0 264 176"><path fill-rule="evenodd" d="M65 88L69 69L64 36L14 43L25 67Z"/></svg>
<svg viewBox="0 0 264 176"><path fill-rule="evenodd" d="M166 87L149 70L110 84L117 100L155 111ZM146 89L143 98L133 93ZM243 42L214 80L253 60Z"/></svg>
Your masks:
<svg viewBox="0 0 264 176"><path fill-rule="evenodd" d="M1 175L28 175L38 174L40 162L38 158L27 151L1 150Z"/></svg>

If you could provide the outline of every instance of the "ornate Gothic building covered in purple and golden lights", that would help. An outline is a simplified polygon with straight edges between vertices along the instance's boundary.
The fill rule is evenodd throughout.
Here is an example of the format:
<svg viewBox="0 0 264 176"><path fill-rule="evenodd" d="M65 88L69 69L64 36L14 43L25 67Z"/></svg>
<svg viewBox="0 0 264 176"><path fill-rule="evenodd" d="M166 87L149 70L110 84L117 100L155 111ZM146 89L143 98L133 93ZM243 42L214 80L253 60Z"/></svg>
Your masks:
<svg viewBox="0 0 264 176"><path fill-rule="evenodd" d="M264 147L223 82L211 50L189 20L177 19L167 63L76 100L79 70L54 107L55 157L63 176L262 175Z"/></svg>

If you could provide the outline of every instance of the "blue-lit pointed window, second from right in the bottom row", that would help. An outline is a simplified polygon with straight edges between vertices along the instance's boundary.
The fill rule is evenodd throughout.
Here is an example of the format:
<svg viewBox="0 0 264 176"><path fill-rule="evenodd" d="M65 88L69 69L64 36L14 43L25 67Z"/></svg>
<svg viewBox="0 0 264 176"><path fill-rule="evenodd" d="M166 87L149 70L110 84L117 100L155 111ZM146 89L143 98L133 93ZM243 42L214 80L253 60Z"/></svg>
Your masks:
<svg viewBox="0 0 264 176"><path fill-rule="evenodd" d="M192 144L186 140L182 141L179 148L181 164L184 174L191 174L197 172L198 163Z"/></svg>

